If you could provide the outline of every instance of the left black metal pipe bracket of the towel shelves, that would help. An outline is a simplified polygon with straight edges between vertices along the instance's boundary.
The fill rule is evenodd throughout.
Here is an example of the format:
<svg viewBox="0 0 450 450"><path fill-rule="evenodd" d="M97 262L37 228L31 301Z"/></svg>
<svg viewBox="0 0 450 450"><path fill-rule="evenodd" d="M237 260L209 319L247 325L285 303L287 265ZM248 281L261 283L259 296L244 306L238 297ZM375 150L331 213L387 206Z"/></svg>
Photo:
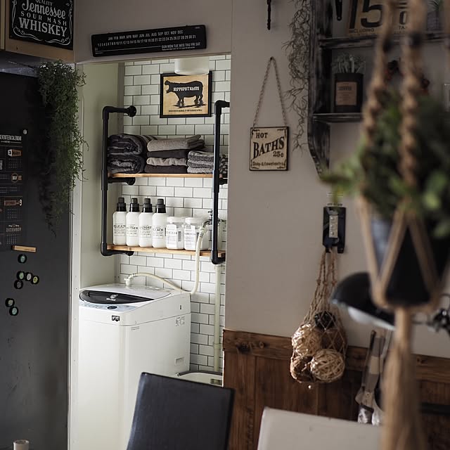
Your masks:
<svg viewBox="0 0 450 450"><path fill-rule="evenodd" d="M129 106L128 108L116 108L115 106L105 106L102 111L103 118L103 146L101 155L101 246L100 251L103 256L133 255L134 252L123 252L122 250L108 250L106 241L107 225L108 225L108 122L110 113L127 114L129 117L136 115L136 108ZM128 182L128 181L127 181ZM134 183L134 182L133 182Z"/></svg>

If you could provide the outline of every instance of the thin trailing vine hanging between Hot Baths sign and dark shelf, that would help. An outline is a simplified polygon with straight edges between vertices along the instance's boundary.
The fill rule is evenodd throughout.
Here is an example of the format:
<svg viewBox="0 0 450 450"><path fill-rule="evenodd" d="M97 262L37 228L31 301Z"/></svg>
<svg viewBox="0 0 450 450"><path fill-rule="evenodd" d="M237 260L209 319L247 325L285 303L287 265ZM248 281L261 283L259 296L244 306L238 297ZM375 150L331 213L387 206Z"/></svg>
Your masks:
<svg viewBox="0 0 450 450"><path fill-rule="evenodd" d="M314 0L313 0L314 1ZM293 0L295 14L289 24L290 41L285 44L288 51L290 86L288 96L291 108L297 113L297 131L294 134L294 149L303 148L303 134L308 117L309 86L309 23L311 20L310 0Z"/></svg>

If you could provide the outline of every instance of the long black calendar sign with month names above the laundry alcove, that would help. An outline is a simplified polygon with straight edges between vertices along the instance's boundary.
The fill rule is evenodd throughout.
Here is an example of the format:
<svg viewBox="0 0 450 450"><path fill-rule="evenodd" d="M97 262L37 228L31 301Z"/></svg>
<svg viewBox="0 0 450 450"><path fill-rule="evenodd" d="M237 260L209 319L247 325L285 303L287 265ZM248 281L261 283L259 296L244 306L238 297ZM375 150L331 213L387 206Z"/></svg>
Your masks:
<svg viewBox="0 0 450 450"><path fill-rule="evenodd" d="M206 49L205 25L92 34L92 55L113 56Z"/></svg>

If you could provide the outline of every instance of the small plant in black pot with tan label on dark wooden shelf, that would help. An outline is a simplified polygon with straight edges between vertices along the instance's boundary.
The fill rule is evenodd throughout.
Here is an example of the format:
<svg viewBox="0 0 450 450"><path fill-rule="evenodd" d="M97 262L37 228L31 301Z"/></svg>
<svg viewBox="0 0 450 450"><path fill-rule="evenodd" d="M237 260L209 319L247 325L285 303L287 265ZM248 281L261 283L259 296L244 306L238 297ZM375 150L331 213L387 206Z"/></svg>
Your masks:
<svg viewBox="0 0 450 450"><path fill-rule="evenodd" d="M366 63L361 56L340 53L333 60L335 74L335 113L360 113L363 103L364 68Z"/></svg>

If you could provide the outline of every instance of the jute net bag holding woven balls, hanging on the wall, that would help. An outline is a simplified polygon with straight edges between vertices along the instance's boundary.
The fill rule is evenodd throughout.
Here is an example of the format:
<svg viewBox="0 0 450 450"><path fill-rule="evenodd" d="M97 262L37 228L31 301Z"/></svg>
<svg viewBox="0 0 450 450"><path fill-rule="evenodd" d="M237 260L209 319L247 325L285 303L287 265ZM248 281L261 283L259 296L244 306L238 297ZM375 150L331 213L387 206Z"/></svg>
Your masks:
<svg viewBox="0 0 450 450"><path fill-rule="evenodd" d="M335 252L324 251L314 299L292 337L290 373L299 383L332 383L344 373L347 339L340 313L330 304L335 285Z"/></svg>

